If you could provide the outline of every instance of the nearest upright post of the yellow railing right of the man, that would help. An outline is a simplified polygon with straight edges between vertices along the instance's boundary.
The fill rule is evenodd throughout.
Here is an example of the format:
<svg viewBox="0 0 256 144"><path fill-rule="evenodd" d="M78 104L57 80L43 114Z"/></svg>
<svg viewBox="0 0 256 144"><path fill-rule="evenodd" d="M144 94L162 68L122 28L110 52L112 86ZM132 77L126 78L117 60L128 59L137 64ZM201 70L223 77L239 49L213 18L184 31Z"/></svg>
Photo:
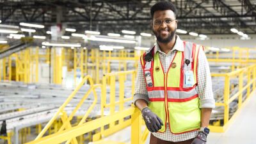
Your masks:
<svg viewBox="0 0 256 144"><path fill-rule="evenodd" d="M225 76L225 88L224 88L224 125L227 124L229 119L229 76Z"/></svg>

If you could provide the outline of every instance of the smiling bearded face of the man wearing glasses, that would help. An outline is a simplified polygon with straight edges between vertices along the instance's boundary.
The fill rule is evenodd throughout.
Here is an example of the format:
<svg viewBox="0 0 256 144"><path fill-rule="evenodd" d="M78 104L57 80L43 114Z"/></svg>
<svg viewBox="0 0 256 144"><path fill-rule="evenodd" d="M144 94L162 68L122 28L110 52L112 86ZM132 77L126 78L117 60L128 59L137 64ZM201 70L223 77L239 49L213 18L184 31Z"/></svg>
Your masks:
<svg viewBox="0 0 256 144"><path fill-rule="evenodd" d="M161 25L155 25L156 20L162 20ZM166 22L169 24L166 24ZM168 21L169 20L169 21ZM172 22L170 20L173 20ZM177 29L177 20L172 10L155 11L153 17L153 32L156 35L157 41L160 43L169 43L175 36Z"/></svg>

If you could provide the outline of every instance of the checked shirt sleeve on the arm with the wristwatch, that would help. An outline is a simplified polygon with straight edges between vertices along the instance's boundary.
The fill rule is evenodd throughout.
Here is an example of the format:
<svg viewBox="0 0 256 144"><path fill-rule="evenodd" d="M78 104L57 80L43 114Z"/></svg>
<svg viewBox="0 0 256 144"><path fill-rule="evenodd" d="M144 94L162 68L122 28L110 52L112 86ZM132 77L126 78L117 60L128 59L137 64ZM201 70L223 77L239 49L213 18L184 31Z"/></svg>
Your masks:
<svg viewBox="0 0 256 144"><path fill-rule="evenodd" d="M198 96L200 98L199 108L214 108L215 100L212 92L212 80L209 63L204 54L204 50L200 48L198 52Z"/></svg>

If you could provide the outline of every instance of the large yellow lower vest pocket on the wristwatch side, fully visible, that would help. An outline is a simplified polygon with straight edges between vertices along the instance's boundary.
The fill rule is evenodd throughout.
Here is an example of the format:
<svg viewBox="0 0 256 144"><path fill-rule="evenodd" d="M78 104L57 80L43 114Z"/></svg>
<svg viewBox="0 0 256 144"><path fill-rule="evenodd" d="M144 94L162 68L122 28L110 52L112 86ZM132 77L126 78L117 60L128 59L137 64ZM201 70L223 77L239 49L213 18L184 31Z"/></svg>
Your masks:
<svg viewBox="0 0 256 144"><path fill-rule="evenodd" d="M184 133L200 128L201 110L198 97L191 101L168 103L172 133Z"/></svg>

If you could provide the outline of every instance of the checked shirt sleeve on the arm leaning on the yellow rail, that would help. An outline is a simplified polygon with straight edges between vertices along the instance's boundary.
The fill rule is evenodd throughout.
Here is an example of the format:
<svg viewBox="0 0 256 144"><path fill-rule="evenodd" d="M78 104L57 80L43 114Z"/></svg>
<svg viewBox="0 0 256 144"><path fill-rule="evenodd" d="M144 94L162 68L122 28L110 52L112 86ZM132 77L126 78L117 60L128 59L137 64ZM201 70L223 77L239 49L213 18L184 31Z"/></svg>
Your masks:
<svg viewBox="0 0 256 144"><path fill-rule="evenodd" d="M137 76L136 76L136 82L135 82L135 92L133 96L133 103L138 99L144 99L149 103L148 99L148 92L146 89L146 82L143 76L143 69L141 67L141 62L138 62L138 71L137 71Z"/></svg>

